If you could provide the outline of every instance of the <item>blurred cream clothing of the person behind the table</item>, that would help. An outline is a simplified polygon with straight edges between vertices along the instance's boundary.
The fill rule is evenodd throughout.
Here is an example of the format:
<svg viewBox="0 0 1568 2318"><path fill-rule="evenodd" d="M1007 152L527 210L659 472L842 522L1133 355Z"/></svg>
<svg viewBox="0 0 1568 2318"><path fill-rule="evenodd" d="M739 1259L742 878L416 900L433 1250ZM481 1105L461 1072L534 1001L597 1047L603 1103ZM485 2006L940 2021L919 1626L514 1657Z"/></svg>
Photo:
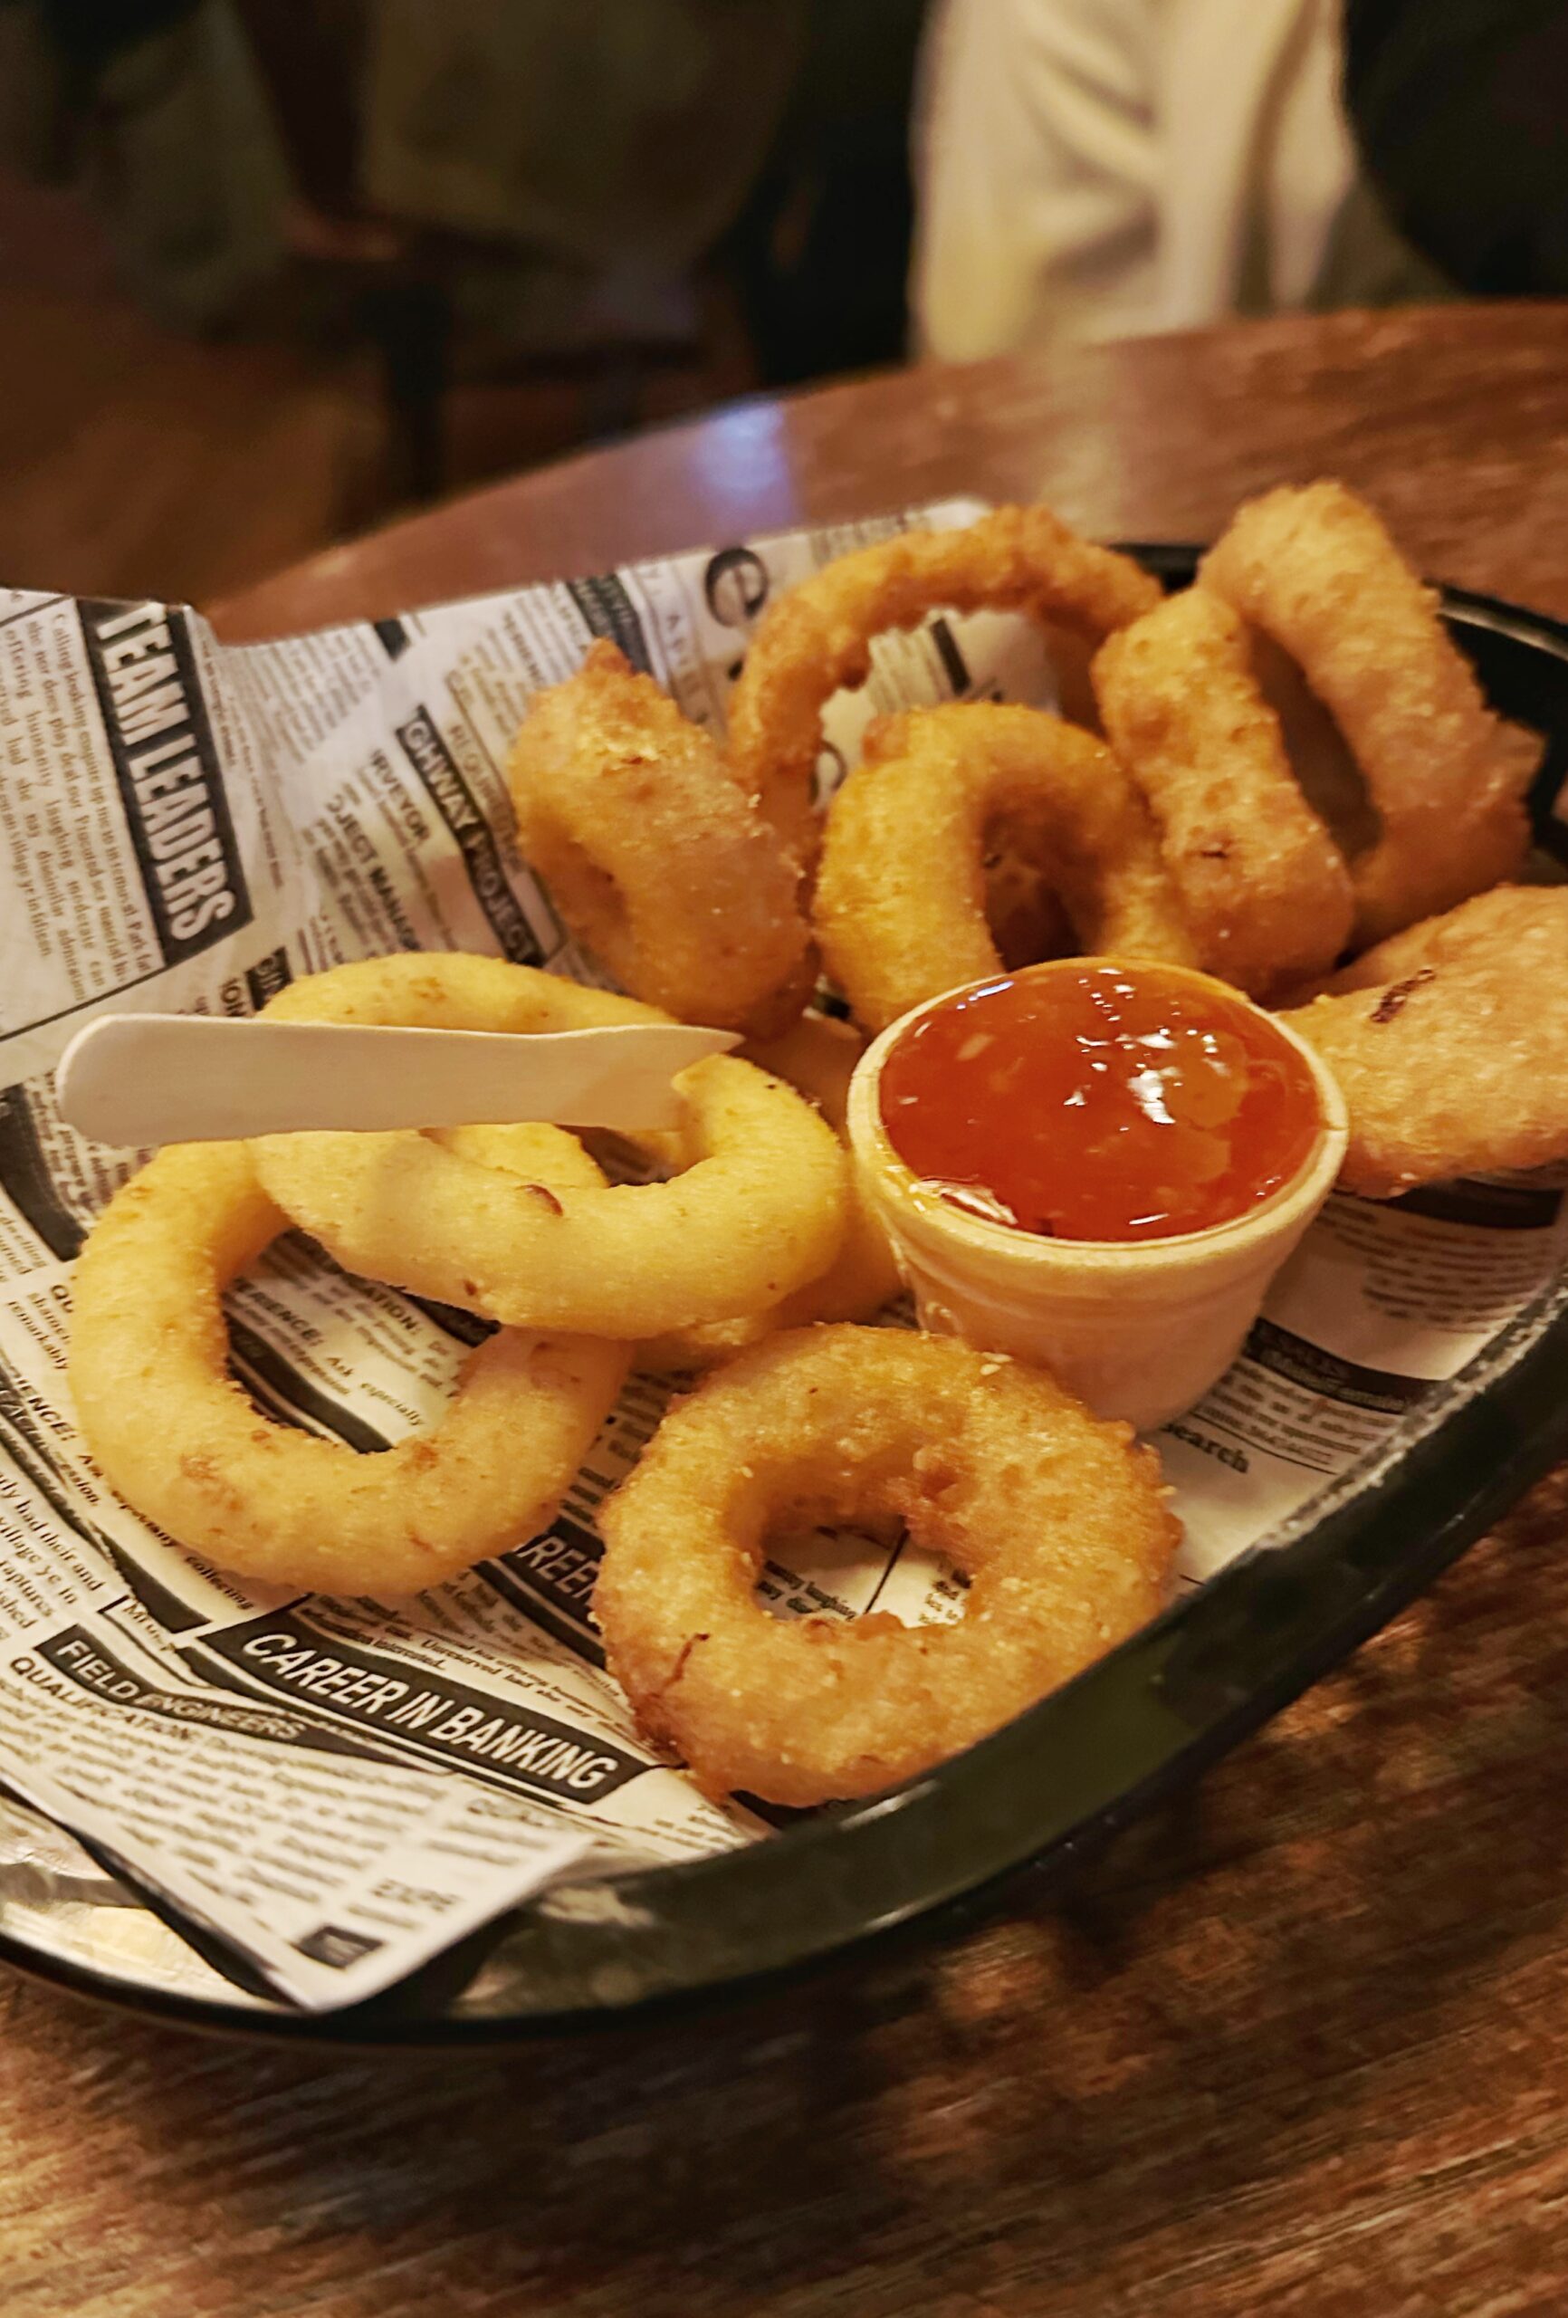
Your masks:
<svg viewBox="0 0 1568 2318"><path fill-rule="evenodd" d="M1341 70L1339 0L938 0L922 352L1441 294L1357 165Z"/></svg>

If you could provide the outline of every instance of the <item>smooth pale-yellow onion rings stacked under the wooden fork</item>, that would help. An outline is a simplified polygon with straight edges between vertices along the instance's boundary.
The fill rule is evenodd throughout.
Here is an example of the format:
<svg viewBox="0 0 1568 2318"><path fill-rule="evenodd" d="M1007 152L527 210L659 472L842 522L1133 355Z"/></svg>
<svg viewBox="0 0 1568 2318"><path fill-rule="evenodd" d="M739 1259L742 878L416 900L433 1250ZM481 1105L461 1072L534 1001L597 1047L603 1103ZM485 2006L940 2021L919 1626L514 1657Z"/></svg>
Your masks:
<svg viewBox="0 0 1568 2318"><path fill-rule="evenodd" d="M514 1034L665 1020L463 955L336 967L269 1011ZM792 1048L806 1045L801 1027ZM695 1064L686 1094L686 1131L646 1138L649 1157L676 1171L667 1182L609 1184L558 1127L160 1152L109 1203L76 1266L69 1375L107 1479L220 1567L331 1592L417 1592L551 1518L632 1340L723 1324L755 1335L815 1282L825 1310L885 1303L885 1242L850 1198L818 1106L727 1055ZM222 1289L294 1224L350 1270L503 1321L433 1430L364 1456L273 1423L227 1375Z"/></svg>

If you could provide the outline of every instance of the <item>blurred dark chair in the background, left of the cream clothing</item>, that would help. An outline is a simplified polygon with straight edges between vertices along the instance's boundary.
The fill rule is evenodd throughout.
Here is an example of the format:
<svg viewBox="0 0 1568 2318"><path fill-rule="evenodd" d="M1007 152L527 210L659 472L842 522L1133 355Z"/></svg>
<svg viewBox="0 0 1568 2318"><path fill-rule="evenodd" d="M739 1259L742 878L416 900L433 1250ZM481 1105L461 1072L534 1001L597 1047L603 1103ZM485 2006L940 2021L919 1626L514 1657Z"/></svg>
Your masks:
<svg viewBox="0 0 1568 2318"><path fill-rule="evenodd" d="M394 496L445 482L459 325L489 376L570 382L588 438L697 359L693 269L767 160L801 0L236 5L296 185L290 250L380 352Z"/></svg>

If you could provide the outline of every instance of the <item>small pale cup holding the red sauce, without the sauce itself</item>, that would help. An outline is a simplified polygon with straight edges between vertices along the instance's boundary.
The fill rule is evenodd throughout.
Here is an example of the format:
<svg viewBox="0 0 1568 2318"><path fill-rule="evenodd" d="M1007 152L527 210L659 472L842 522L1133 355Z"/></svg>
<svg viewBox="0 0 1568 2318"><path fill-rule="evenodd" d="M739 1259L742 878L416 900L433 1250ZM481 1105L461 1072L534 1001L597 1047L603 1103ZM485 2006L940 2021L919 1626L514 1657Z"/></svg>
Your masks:
<svg viewBox="0 0 1568 2318"><path fill-rule="evenodd" d="M1082 971L1102 960L1026 967L1033 981L1054 964ZM1163 976L1251 1001L1228 983L1186 967ZM1228 1224L1170 1240L1047 1240L966 1215L922 1187L882 1124L880 1078L887 1055L947 990L889 1025L850 1080L850 1150L873 1212L882 1219L919 1321L987 1351L1049 1368L1100 1416L1140 1430L1202 1400L1234 1361L1265 1289L1327 1198L1346 1154L1346 1099L1318 1055L1276 1015L1265 1022L1306 1062L1318 1089L1318 1138L1281 1189ZM1251 1008L1262 1013L1262 1008Z"/></svg>

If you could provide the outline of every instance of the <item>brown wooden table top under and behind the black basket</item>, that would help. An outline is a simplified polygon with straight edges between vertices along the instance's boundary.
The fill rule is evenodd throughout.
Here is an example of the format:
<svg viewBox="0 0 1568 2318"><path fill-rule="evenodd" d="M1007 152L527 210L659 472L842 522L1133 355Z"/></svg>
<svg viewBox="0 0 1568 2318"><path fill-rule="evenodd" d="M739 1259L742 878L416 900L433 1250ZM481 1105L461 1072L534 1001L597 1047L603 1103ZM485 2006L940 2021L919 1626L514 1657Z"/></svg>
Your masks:
<svg viewBox="0 0 1568 2318"><path fill-rule="evenodd" d="M1369 487L1568 612L1568 318L1267 322L748 403L220 610L257 635L933 491ZM1568 2295L1568 1474L1065 1898L489 2058L2 1982L7 2318L1524 2313Z"/></svg>

